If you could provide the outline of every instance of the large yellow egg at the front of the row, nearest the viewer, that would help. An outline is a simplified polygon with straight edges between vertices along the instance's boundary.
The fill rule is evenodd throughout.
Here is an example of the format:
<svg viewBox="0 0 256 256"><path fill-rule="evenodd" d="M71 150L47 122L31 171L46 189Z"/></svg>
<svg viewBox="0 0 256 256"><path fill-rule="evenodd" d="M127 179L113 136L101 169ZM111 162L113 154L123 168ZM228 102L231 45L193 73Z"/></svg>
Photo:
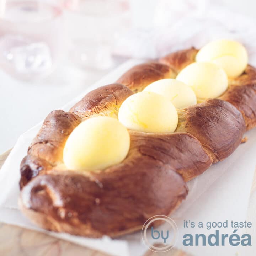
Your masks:
<svg viewBox="0 0 256 256"><path fill-rule="evenodd" d="M130 135L117 119L91 117L68 137L63 160L70 170L96 170L122 162L130 148Z"/></svg>

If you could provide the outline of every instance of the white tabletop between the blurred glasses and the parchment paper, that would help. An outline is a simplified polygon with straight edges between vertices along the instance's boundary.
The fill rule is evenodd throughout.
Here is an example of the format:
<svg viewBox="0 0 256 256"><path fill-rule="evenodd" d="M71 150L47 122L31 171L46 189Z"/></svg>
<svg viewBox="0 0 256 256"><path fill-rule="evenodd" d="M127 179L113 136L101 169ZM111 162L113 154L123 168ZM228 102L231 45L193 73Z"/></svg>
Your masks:
<svg viewBox="0 0 256 256"><path fill-rule="evenodd" d="M21 133L42 121L50 111L61 108L123 61L115 59L108 70L64 64L48 77L32 82L14 79L0 70L0 154L12 148Z"/></svg>

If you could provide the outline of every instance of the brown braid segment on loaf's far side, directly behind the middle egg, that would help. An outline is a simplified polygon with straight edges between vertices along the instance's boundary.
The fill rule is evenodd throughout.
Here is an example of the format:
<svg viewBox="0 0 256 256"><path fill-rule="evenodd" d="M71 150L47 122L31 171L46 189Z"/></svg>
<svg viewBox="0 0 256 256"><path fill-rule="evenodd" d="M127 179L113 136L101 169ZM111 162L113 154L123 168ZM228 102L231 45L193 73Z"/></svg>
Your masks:
<svg viewBox="0 0 256 256"><path fill-rule="evenodd" d="M117 82L127 86L133 92L140 92L156 80L175 78L176 75L174 70L165 64L148 62L129 69Z"/></svg>

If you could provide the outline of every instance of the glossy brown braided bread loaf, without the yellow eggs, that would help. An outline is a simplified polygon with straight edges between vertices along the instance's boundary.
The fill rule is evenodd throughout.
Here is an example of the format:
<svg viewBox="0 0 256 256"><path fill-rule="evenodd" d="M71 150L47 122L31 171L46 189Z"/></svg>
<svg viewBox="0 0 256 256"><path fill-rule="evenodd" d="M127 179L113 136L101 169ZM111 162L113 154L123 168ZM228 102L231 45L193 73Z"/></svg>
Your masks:
<svg viewBox="0 0 256 256"><path fill-rule="evenodd" d="M121 163L96 172L67 170L63 148L73 129L92 116L117 117L122 102L151 82L175 78L198 50L171 53L137 65L116 84L89 92L69 112L51 112L21 162L20 208L44 229L112 237L142 228L157 214L169 215L188 189L186 181L227 158L246 130L256 126L256 69L229 79L228 90L178 110L174 133L130 130Z"/></svg>

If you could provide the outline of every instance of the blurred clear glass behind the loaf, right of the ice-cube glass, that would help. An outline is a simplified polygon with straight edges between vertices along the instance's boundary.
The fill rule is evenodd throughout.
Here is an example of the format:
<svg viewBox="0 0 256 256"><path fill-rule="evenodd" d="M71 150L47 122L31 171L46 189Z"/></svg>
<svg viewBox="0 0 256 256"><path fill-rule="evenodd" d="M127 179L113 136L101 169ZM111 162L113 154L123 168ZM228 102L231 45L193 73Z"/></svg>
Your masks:
<svg viewBox="0 0 256 256"><path fill-rule="evenodd" d="M115 40L129 23L125 0L67 0L64 12L70 58L80 67L109 69Z"/></svg>

